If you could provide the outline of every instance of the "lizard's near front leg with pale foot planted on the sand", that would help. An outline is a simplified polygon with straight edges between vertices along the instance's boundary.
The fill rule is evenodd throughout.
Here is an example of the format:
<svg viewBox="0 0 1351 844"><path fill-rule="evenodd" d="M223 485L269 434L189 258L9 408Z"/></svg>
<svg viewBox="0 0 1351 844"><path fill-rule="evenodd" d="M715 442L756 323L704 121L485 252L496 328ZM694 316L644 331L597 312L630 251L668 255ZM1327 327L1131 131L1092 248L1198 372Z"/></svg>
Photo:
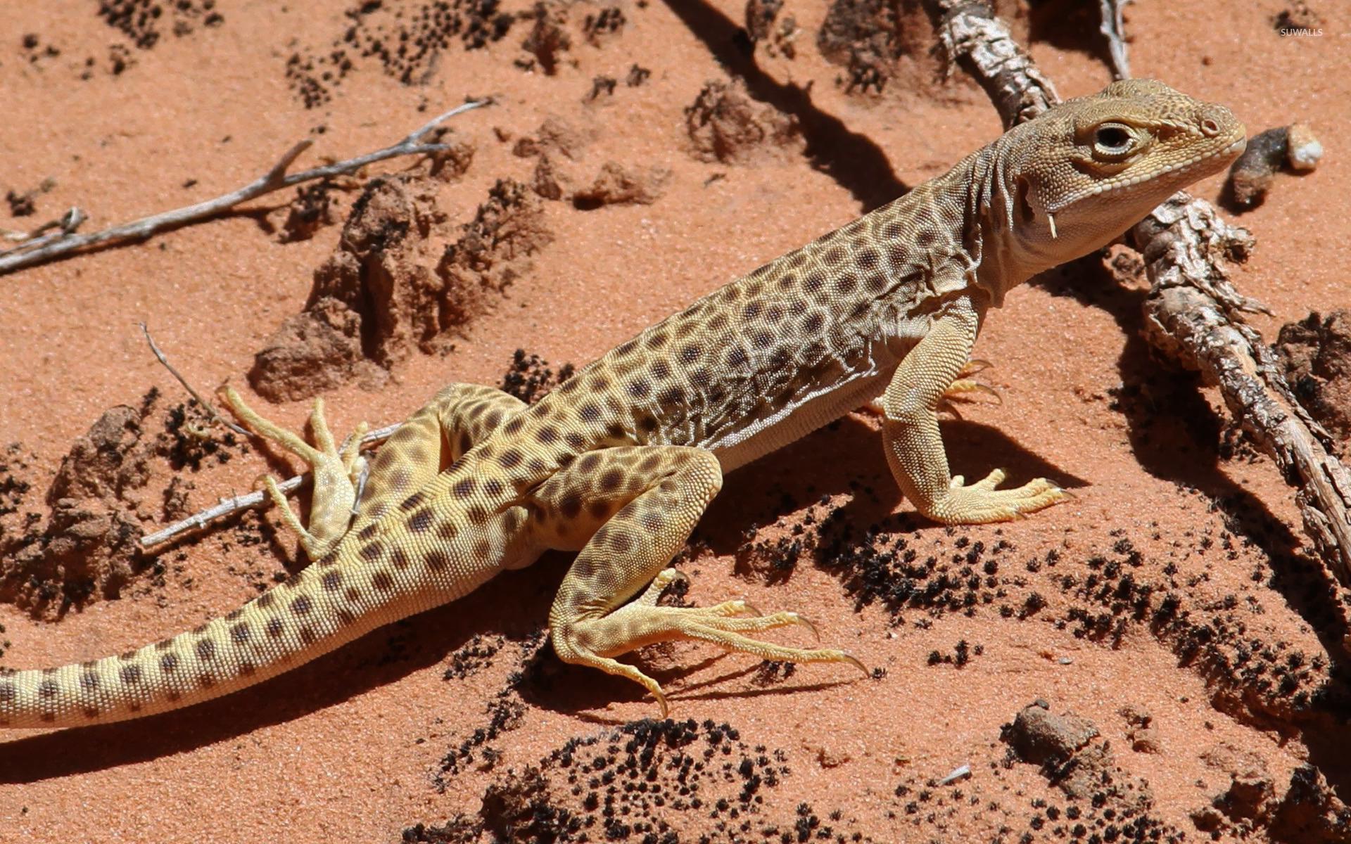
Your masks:
<svg viewBox="0 0 1351 844"><path fill-rule="evenodd" d="M882 394L882 439L892 474L921 513L947 524L1006 521L1067 496L1046 478L997 490L1001 469L970 486L950 474L936 411L967 365L978 329L971 301L952 302L896 367Z"/></svg>

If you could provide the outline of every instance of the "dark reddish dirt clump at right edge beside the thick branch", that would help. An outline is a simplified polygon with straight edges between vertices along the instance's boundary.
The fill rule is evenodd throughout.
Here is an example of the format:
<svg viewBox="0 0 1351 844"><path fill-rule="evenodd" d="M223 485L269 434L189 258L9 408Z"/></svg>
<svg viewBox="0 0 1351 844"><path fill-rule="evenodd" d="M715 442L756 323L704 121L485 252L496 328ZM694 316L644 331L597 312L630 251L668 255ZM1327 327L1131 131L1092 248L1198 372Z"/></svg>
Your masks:
<svg viewBox="0 0 1351 844"><path fill-rule="evenodd" d="M1282 325L1275 351L1300 404L1332 435L1337 456L1351 456L1351 311Z"/></svg>

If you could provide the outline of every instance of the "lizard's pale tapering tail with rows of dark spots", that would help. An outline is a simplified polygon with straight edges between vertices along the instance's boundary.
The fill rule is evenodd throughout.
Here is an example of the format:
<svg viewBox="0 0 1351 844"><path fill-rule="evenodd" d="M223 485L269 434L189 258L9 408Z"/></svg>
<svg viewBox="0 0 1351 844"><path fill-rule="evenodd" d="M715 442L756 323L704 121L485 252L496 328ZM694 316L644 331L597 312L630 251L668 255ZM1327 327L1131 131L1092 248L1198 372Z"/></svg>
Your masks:
<svg viewBox="0 0 1351 844"><path fill-rule="evenodd" d="M227 616L120 656L0 668L0 727L82 727L238 691L424 606L399 573L336 555Z"/></svg>

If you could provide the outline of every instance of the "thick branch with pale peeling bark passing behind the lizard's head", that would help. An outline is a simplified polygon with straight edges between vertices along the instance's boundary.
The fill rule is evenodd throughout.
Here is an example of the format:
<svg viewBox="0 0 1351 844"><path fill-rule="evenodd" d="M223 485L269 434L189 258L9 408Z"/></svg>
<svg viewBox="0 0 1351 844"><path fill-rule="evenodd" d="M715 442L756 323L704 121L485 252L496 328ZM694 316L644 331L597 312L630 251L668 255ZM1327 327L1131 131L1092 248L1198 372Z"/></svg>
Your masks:
<svg viewBox="0 0 1351 844"><path fill-rule="evenodd" d="M990 93L1005 126L1059 101L988 5L929 0L929 7L948 57L961 58ZM1144 255L1151 285L1146 339L1220 388L1243 429L1298 487L1305 535L1336 582L1351 589L1351 471L1328 452L1331 438L1296 400L1262 335L1244 323L1244 312L1266 308L1229 284L1228 262L1247 257L1252 236L1210 203L1178 192L1136 224L1128 242Z"/></svg>

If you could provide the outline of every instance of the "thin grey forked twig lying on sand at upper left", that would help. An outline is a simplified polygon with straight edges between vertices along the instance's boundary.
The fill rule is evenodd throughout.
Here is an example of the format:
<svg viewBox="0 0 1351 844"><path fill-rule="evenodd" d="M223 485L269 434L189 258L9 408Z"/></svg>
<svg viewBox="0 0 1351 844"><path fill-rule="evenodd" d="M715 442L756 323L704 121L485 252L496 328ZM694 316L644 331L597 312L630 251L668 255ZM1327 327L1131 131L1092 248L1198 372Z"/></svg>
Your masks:
<svg viewBox="0 0 1351 844"><path fill-rule="evenodd" d="M122 243L124 240L141 240L149 238L161 231L170 228L177 228L180 226L186 226L189 223L199 223L207 220L219 213L223 213L240 203L247 203L251 199L257 199L265 193L272 193L274 190L281 190L292 185L299 185L300 182L313 181L316 178L327 178L330 176L340 176L343 173L353 173L361 167L384 161L386 158L397 158L400 155L426 155L428 153L440 153L450 149L444 143L423 143L426 138L434 128L440 126L443 122L454 117L455 115L463 113L473 108L480 108L481 105L488 105L492 99L471 100L463 105L457 105L455 108L438 115L435 119L427 122L422 128L409 134L403 140L393 146L388 146L382 150L376 150L374 153L366 153L365 155L358 155L355 158L349 158L347 161L339 161L331 165L324 165L322 167L312 167L309 170L303 170L300 173L286 174L290 165L300 157L301 153L309 149L313 143L312 139L307 138L300 143L295 144L267 170L265 174L259 176L257 180L249 182L238 190L218 196L212 200L205 200L195 205L188 205L185 208L176 208L173 211L166 211L163 213L157 213L149 217L142 217L131 223L124 223L122 226L113 226L112 228L104 228L103 231L89 232L89 234L74 234L73 231L62 231L59 235L47 235L42 238L34 238L31 240L23 242L19 246L11 247L8 250L0 251L0 275L5 273L12 273L28 266L35 266L38 263L46 263L57 258L70 255L76 251L86 250L95 246L103 246L108 243ZM82 212L81 212L82 213Z"/></svg>

